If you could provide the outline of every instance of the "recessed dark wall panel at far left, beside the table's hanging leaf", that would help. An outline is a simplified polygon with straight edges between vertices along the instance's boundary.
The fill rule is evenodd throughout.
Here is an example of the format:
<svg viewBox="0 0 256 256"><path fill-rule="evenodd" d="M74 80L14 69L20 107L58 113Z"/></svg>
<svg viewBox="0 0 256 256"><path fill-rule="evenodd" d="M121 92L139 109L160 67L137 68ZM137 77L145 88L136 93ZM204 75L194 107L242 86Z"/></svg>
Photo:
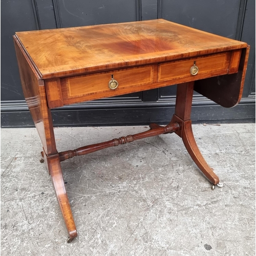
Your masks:
<svg viewBox="0 0 256 256"><path fill-rule="evenodd" d="M12 35L36 29L31 0L1 1L1 101L24 99Z"/></svg>

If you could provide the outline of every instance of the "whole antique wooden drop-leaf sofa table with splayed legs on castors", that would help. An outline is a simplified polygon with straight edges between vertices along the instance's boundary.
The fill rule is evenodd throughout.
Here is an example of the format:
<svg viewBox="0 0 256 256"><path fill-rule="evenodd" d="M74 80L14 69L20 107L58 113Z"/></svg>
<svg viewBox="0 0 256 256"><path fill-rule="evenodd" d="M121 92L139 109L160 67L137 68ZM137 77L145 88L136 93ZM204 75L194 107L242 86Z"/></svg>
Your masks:
<svg viewBox="0 0 256 256"><path fill-rule="evenodd" d="M191 129L193 91L230 108L241 99L249 46L164 19L15 33L22 87L71 242L77 237L60 162L110 146L176 133L206 178L220 186ZM166 126L57 152L51 109L178 84Z"/></svg>

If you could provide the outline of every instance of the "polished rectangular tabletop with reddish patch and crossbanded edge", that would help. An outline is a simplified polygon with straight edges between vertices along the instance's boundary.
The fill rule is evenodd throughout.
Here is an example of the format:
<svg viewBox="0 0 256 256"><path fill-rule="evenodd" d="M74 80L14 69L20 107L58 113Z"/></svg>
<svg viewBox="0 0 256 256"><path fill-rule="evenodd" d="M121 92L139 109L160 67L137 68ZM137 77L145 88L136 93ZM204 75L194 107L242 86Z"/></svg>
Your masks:
<svg viewBox="0 0 256 256"><path fill-rule="evenodd" d="M240 49L247 44L164 19L17 32L41 78Z"/></svg>

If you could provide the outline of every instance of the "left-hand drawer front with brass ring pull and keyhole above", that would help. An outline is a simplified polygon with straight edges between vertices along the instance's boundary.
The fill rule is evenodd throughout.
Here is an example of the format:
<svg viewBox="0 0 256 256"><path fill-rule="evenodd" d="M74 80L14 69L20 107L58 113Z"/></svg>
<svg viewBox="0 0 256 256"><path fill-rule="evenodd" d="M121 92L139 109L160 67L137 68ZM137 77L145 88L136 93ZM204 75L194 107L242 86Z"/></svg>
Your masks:
<svg viewBox="0 0 256 256"><path fill-rule="evenodd" d="M114 90L109 88L109 82L112 79L118 82L118 87ZM129 93L130 88L136 88L133 91L142 91L143 85L153 83L153 65L66 77L61 78L60 83L64 104L70 103L70 99L75 102L75 98L93 100L112 97Z"/></svg>

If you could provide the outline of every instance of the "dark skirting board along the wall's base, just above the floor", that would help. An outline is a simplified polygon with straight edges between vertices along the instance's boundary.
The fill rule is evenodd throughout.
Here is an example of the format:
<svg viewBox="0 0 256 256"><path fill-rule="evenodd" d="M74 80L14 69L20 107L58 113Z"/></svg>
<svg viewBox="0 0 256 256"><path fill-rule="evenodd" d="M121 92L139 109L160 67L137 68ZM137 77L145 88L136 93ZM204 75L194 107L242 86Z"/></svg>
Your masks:
<svg viewBox="0 0 256 256"><path fill-rule="evenodd" d="M152 122L167 124L174 114L174 106L144 108L118 108L93 110L52 111L54 126L118 126L148 125ZM239 104L224 109L219 105L194 105L191 113L193 123L255 122L255 104ZM34 127L30 113L4 112L2 127Z"/></svg>

